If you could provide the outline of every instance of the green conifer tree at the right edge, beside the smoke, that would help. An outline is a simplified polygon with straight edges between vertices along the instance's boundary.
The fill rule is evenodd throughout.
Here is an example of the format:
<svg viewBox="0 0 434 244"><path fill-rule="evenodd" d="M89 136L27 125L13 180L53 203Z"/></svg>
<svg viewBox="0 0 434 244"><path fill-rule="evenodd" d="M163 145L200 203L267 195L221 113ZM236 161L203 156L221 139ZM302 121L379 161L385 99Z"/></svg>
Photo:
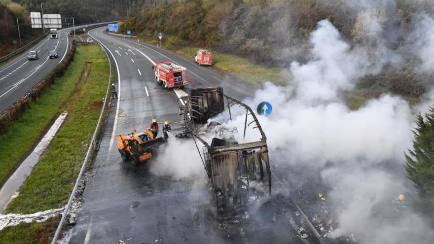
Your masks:
<svg viewBox="0 0 434 244"><path fill-rule="evenodd" d="M416 124L413 150L405 154L405 170L419 191L423 211L434 216L434 108L425 118L417 115Z"/></svg>

